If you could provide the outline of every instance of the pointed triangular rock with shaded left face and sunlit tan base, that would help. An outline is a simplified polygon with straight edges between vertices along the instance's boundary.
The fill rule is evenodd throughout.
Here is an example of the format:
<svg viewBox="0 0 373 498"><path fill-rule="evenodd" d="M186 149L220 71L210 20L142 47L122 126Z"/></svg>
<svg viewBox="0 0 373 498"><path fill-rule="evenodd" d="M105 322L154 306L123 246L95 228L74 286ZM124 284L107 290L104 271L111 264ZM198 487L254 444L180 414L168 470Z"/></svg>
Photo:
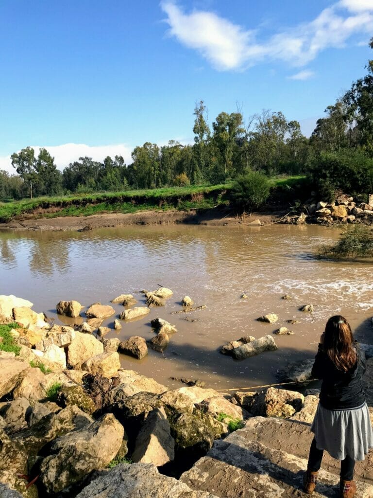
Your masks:
<svg viewBox="0 0 373 498"><path fill-rule="evenodd" d="M132 460L157 466L175 458L175 441L164 408L151 411L136 438Z"/></svg>

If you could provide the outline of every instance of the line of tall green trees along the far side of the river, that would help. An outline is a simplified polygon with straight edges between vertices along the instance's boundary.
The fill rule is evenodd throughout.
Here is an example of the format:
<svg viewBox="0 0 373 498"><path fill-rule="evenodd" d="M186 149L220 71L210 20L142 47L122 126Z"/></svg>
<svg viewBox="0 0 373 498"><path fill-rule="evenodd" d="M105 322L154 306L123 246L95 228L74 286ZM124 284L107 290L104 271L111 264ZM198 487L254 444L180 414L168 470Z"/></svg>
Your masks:
<svg viewBox="0 0 373 498"><path fill-rule="evenodd" d="M370 41L373 49L373 38ZM194 143L145 142L132 162L107 156L102 162L80 157L60 172L54 158L32 147L11 155L17 175L0 171L0 200L92 191L148 189L172 185L217 184L247 172L267 176L308 174L325 195L344 187L373 191L373 61L368 74L325 110L309 138L297 121L263 111L245 120L240 109L220 113L209 124L203 101L194 107Z"/></svg>

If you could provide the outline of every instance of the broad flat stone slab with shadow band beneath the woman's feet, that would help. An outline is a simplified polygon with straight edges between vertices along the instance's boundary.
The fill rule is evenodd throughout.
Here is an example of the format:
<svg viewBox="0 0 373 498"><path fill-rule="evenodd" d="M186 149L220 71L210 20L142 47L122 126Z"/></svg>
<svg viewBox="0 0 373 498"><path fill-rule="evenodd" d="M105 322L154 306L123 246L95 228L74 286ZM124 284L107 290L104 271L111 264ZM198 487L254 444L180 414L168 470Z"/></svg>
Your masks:
<svg viewBox="0 0 373 498"><path fill-rule="evenodd" d="M220 498L308 496L302 491L302 481L307 466L306 456L309 446L303 458L292 454L290 442L286 445L287 451L284 448L273 448L271 446L276 445L270 444L267 440L271 439L271 436L276 438L276 431L267 434L267 446L256 440L253 420L250 419L245 428L233 432L226 439L215 441L207 455L185 472L180 480L191 489L206 491ZM292 427L295 429L302 425L304 424L293 422ZM294 432L293 441L295 439L298 443L299 436L299 433ZM373 486L357 481L357 487L355 498L373 498ZM316 491L312 497L339 498L339 496L339 476L320 470Z"/></svg>

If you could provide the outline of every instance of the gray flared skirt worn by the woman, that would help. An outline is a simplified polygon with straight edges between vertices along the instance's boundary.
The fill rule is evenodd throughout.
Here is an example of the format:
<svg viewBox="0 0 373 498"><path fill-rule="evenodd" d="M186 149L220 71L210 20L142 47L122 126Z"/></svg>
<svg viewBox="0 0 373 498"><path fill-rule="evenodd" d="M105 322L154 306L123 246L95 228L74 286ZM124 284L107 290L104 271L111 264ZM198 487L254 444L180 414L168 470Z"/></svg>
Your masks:
<svg viewBox="0 0 373 498"><path fill-rule="evenodd" d="M316 447L337 460L347 456L364 460L373 448L373 431L367 403L348 410L328 410L319 403L311 425Z"/></svg>

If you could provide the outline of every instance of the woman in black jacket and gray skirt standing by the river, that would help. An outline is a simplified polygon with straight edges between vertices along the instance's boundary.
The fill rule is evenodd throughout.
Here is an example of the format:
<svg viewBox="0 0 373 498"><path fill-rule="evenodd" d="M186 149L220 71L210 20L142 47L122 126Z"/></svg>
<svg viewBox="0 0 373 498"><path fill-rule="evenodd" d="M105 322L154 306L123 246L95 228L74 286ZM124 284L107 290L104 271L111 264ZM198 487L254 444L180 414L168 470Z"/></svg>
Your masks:
<svg viewBox="0 0 373 498"><path fill-rule="evenodd" d="M356 460L373 448L373 431L362 385L365 355L343 316L329 318L320 338L312 377L321 378L320 401L311 431L315 434L304 476L304 491L315 489L323 451L341 460L342 498L353 498Z"/></svg>

